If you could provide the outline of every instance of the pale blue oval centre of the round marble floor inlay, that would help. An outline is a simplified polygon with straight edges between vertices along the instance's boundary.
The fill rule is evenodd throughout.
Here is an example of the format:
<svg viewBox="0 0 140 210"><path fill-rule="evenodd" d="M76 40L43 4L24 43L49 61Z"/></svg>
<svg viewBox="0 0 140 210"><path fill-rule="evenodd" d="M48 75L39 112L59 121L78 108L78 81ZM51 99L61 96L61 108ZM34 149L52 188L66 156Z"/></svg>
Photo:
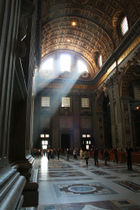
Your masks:
<svg viewBox="0 0 140 210"><path fill-rule="evenodd" d="M89 193L95 191L96 187L79 185L69 187L68 190L75 193Z"/></svg>

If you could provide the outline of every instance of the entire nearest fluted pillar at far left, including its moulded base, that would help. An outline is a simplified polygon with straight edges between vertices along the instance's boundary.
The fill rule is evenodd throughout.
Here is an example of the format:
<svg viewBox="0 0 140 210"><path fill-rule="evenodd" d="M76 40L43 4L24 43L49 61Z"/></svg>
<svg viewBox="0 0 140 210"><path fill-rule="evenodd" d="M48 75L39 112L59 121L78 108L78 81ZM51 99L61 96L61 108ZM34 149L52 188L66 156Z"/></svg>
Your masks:
<svg viewBox="0 0 140 210"><path fill-rule="evenodd" d="M19 208L25 178L9 164L11 107L15 76L15 44L21 12L20 0L0 1L0 209Z"/></svg>

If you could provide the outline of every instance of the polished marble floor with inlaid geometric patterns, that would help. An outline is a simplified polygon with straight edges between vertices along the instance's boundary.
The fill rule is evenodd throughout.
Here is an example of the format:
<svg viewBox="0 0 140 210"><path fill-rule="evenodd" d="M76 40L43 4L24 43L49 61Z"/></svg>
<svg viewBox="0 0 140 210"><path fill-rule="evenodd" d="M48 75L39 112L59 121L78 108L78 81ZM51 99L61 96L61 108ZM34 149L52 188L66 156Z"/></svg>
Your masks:
<svg viewBox="0 0 140 210"><path fill-rule="evenodd" d="M85 160L44 156L39 164L38 210L140 210L140 165L86 167Z"/></svg>

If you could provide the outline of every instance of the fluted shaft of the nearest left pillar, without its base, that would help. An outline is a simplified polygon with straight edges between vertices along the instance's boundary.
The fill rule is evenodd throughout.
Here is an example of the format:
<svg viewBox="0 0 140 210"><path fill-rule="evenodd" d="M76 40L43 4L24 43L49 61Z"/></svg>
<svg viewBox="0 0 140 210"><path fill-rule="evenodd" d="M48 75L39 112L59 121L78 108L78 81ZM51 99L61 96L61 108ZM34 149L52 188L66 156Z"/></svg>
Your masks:
<svg viewBox="0 0 140 210"><path fill-rule="evenodd" d="M20 1L6 1L2 6L4 13L1 14L3 21L0 32L0 156L7 156L15 68L13 53L18 33Z"/></svg>

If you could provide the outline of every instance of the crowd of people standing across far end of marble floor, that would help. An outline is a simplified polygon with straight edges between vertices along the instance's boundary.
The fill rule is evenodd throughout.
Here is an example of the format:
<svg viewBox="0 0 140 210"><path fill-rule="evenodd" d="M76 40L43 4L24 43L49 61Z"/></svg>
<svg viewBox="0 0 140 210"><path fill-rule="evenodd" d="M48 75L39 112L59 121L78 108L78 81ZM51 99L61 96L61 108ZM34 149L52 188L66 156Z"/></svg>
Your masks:
<svg viewBox="0 0 140 210"><path fill-rule="evenodd" d="M127 167L128 170L132 170L132 148L126 148L125 151L121 150L121 159L123 160L123 162L127 162ZM34 152L36 154L38 154L36 151ZM95 166L98 166L98 159L100 158L101 160L104 161L104 164L107 165L108 161L114 161L116 163L119 162L119 158L118 158L118 149L117 148L113 148L112 150L109 149L98 149L97 147L92 148L92 150L86 150L86 149L80 149L78 150L77 148L67 148L67 149L60 149L60 148L49 148L46 150L40 150L40 155L43 156L47 156L48 160L49 159L54 159L55 157L57 157L57 159L59 160L60 157L60 153L62 155L66 154L66 160L69 161L70 156L73 156L73 159L77 160L78 156L80 155L81 159L85 159L86 161L86 165L88 166L88 160L89 158L93 158L94 159L94 164ZM111 154L113 154L113 159L110 159Z"/></svg>

